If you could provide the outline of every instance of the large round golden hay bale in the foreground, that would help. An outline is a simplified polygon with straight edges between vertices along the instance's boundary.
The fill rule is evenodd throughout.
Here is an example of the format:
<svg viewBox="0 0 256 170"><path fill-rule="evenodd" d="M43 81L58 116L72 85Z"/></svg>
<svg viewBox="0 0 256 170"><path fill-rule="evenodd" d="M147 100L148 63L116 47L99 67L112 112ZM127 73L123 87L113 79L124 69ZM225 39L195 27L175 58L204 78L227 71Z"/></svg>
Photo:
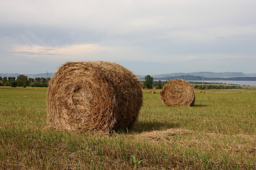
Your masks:
<svg viewBox="0 0 256 170"><path fill-rule="evenodd" d="M47 92L50 127L109 132L131 128L142 105L137 76L117 63L67 62Z"/></svg>

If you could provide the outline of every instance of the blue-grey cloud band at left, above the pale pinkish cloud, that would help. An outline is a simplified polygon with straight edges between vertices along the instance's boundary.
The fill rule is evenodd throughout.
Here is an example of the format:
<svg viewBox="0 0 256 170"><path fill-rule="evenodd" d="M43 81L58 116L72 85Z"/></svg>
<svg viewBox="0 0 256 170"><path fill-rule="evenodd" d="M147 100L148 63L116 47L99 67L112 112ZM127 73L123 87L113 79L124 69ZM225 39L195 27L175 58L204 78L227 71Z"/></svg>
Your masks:
<svg viewBox="0 0 256 170"><path fill-rule="evenodd" d="M52 47L97 42L100 35L93 32L75 32L61 27L3 25L0 37L9 37L19 44L48 45Z"/></svg>

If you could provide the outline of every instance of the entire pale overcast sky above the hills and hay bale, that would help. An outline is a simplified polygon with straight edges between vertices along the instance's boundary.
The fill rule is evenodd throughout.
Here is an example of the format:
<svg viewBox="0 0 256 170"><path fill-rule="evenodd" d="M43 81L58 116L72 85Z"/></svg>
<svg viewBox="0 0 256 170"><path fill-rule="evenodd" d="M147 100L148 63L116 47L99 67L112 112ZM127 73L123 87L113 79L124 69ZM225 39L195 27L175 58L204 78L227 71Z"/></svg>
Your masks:
<svg viewBox="0 0 256 170"><path fill-rule="evenodd" d="M0 73L116 62L135 74L256 73L255 0L0 1Z"/></svg>

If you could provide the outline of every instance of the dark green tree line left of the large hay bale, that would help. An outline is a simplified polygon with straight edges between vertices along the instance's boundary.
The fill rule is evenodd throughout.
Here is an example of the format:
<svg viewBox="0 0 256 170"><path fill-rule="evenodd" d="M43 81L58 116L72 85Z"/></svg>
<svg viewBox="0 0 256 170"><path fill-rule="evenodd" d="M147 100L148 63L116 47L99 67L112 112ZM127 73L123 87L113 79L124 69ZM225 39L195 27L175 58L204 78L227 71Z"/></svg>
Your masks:
<svg viewBox="0 0 256 170"><path fill-rule="evenodd" d="M9 76L8 78L0 76L0 86L11 86L11 87L48 87L48 80L50 78L27 78L27 76L20 74L17 76Z"/></svg>

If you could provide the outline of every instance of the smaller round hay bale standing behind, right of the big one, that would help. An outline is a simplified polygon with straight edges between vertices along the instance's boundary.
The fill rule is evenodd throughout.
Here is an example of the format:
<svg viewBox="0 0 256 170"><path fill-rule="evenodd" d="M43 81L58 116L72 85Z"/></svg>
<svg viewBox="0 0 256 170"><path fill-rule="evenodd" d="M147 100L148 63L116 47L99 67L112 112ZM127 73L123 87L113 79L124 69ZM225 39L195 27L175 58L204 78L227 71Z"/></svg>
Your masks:
<svg viewBox="0 0 256 170"><path fill-rule="evenodd" d="M193 106L195 104L193 87L183 79L171 80L164 84L160 96L167 106Z"/></svg>

